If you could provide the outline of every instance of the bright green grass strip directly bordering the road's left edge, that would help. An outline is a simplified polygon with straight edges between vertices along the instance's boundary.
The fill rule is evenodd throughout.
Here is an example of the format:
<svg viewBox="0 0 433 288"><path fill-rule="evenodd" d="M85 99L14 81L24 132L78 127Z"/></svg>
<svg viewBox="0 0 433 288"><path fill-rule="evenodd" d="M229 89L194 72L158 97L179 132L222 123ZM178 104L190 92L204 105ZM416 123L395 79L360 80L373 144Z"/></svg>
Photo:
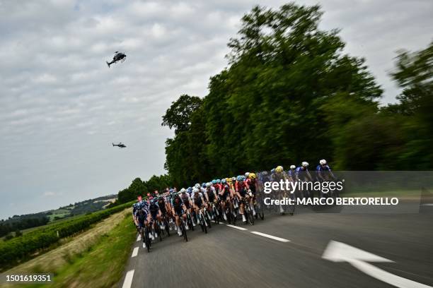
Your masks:
<svg viewBox="0 0 433 288"><path fill-rule="evenodd" d="M34 287L112 287L120 281L135 241L136 230L128 214L110 232L78 255L65 255L67 265L54 272L54 283ZM28 287L28 286L25 286Z"/></svg>

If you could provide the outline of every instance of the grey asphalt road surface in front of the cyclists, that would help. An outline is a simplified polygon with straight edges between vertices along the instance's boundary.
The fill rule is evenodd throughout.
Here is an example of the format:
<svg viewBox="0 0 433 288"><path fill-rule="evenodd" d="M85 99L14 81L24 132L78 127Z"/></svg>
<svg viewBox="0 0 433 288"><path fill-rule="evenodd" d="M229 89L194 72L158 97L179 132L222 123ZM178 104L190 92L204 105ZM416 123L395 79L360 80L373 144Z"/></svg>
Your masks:
<svg viewBox="0 0 433 288"><path fill-rule="evenodd" d="M120 287L395 287L386 283L397 281L393 275L400 284L410 281L400 287L433 287L432 220L433 213L298 211L265 215L253 226L241 224L244 230L226 224L212 225L208 234L196 229L187 243L175 234L154 244L151 253L137 241ZM371 273L385 282L347 261L323 258L330 241L392 260L369 262Z"/></svg>

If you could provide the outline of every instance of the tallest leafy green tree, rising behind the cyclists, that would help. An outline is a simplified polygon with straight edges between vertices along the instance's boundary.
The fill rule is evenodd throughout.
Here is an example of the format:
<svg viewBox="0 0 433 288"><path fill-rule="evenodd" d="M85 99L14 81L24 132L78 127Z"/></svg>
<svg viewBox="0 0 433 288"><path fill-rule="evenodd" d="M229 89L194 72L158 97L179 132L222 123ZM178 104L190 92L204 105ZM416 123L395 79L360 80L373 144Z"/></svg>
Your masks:
<svg viewBox="0 0 433 288"><path fill-rule="evenodd" d="M319 6L287 4L243 16L229 67L211 78L187 128L166 142L176 182L333 160L324 105L338 97L375 107L382 90L364 59L342 53L337 30L318 29L321 15Z"/></svg>

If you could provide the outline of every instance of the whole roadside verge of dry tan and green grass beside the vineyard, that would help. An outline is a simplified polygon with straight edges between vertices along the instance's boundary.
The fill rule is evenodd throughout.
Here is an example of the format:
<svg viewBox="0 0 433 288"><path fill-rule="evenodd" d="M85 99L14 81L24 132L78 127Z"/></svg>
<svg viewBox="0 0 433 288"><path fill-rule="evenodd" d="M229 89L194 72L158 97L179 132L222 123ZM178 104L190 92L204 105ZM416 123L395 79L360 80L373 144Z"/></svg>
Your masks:
<svg viewBox="0 0 433 288"><path fill-rule="evenodd" d="M104 263L109 263L110 269L115 270L105 268L105 271L110 271L110 275L106 276L108 279L104 282L105 285L100 286L93 284L93 286L96 285L96 287L108 287L106 283L114 281L113 277L118 275L118 273L116 274L117 269L123 271L123 266L119 268L112 265L110 261L123 259L121 253L122 249L125 250L127 254L130 252L129 247L134 241L135 234L130 209L126 209L111 215L78 236L65 239L58 248L54 248L54 250L48 251L37 258L18 265L5 273L50 272L55 275L55 284L50 285L50 287L71 287L69 282L76 279L81 280L79 280L78 286L75 287L88 287L84 281L87 281L86 277L90 279L91 275L87 275L86 273L96 273L95 271L100 273L103 272L103 270L99 270L98 267L91 268L88 266L87 262L89 262L89 265L105 265ZM127 241L127 243L124 241ZM113 255L116 257L113 257ZM97 259L103 261L103 263L92 262ZM116 265L125 265L125 263L124 261L124 263L117 263ZM69 277L69 274L74 276ZM77 275L80 275L80 277ZM96 279L100 277L100 279L102 279L105 275L93 274L93 277L96 277ZM119 277L121 277L121 272ZM74 282L74 285L77 283ZM16 287L16 285L10 287ZM25 285L23 287L29 286ZM40 285L36 287L40 287Z"/></svg>

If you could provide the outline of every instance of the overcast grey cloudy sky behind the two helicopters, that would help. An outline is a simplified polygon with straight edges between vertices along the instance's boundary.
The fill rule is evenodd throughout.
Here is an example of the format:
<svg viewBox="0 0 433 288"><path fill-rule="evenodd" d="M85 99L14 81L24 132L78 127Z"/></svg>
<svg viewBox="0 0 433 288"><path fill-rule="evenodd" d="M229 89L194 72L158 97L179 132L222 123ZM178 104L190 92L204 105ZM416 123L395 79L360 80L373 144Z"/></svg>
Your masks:
<svg viewBox="0 0 433 288"><path fill-rule="evenodd" d="M0 219L164 173L172 132L161 115L180 94L207 94L244 13L285 2L0 0ZM387 75L395 52L432 40L432 0L297 3L321 4L321 28L342 29L384 103L398 94ZM116 50L127 61L108 68Z"/></svg>

